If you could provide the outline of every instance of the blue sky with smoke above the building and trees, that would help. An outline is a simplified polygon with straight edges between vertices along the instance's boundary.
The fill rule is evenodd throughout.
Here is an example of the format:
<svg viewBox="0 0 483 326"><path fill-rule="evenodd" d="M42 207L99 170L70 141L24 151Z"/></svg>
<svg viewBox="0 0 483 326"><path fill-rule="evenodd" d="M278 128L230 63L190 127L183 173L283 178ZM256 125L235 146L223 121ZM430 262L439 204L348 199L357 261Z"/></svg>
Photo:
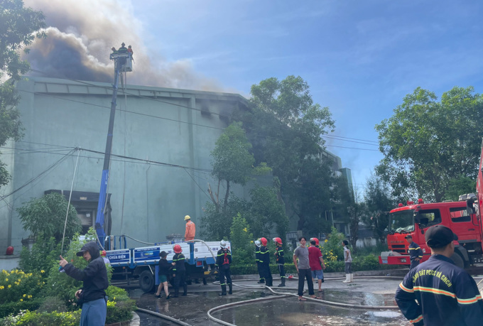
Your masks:
<svg viewBox="0 0 483 326"><path fill-rule="evenodd" d="M266 78L302 77L314 102L332 112L327 150L352 170L359 193L382 158L374 126L406 94L416 87L438 97L455 86L483 92L479 0L25 3L50 26L28 58L43 73L107 81L109 49L125 42L134 48L134 85L248 98Z"/></svg>

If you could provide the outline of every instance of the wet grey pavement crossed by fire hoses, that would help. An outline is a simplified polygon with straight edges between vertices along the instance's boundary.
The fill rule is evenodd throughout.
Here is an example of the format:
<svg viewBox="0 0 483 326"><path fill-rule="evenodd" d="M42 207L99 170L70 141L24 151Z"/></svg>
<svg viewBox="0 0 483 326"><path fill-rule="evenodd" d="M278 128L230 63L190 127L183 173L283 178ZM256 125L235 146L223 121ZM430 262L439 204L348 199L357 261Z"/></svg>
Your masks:
<svg viewBox="0 0 483 326"><path fill-rule="evenodd" d="M342 280L326 279L322 292L314 283L315 293L322 300L353 305L394 306L394 293L402 278L355 278L354 283L344 284ZM277 281L274 281L278 284ZM237 281L234 284L244 287L258 286L256 281ZM273 287L278 292L296 294L297 281L288 281L286 288ZM172 290L170 288L170 290ZM139 288L131 288L130 296L139 308L161 313L186 322L190 325L220 325L210 320L207 311L219 305L235 303L254 298L273 300L246 303L224 308L212 316L234 325L410 325L399 310L340 308L313 301L298 301L297 296L279 298L267 289L239 288L234 286L232 295L219 296L219 285L209 283L188 286L188 295L179 298L155 298L153 293L143 293ZM306 284L305 284L305 290ZM305 295L307 293L305 292ZM160 317L138 313L141 325L176 325Z"/></svg>

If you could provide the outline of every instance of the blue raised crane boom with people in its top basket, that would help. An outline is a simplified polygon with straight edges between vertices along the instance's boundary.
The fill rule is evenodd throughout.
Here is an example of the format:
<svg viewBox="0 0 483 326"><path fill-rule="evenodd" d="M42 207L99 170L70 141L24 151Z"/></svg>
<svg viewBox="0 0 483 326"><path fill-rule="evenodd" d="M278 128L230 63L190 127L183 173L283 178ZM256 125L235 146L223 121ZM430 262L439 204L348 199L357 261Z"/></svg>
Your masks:
<svg viewBox="0 0 483 326"><path fill-rule="evenodd" d="M111 60L114 60L114 84L112 85L113 91L111 100L111 115L109 116L109 127L107 129L106 151L104 152L104 167L102 168L101 190L99 190L99 202L97 203L97 216L95 223L97 237L99 238L102 246L104 246L104 238L106 237L106 232L104 232L104 208L106 206L109 162L111 161L112 132L114 130L114 116L116 114L116 98L117 88L119 85L119 75L121 72L132 71L131 53L128 53L127 51L121 52L121 49L122 48L120 48L118 51L114 51L114 53L111 53L109 56Z"/></svg>

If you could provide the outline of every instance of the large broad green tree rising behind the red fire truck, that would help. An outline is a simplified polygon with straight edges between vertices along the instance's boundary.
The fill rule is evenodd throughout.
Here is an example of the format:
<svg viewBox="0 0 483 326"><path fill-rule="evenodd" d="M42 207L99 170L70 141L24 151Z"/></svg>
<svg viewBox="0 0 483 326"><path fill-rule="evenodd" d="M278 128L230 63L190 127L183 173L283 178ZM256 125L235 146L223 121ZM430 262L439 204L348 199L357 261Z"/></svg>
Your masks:
<svg viewBox="0 0 483 326"><path fill-rule="evenodd" d="M440 202L450 180L476 178L482 124L483 97L473 87L454 87L440 102L418 87L376 125L384 154L376 173L396 197Z"/></svg>

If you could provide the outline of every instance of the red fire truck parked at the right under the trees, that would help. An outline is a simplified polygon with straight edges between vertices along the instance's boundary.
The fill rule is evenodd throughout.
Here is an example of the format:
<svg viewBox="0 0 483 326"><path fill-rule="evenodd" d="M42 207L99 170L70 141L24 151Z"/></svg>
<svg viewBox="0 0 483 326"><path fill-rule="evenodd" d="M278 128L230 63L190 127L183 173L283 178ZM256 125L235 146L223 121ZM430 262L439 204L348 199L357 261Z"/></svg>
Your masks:
<svg viewBox="0 0 483 326"><path fill-rule="evenodd" d="M483 146L480 157L477 195L461 195L458 202L435 202L426 204L423 200L408 202L406 206L389 212L387 244L389 251L379 256L379 263L389 265L409 265L408 242L410 234L413 241L423 249L425 261L431 255L426 245L425 232L435 224L443 224L457 234L455 254L452 260L457 266L465 268L474 263L483 263Z"/></svg>

